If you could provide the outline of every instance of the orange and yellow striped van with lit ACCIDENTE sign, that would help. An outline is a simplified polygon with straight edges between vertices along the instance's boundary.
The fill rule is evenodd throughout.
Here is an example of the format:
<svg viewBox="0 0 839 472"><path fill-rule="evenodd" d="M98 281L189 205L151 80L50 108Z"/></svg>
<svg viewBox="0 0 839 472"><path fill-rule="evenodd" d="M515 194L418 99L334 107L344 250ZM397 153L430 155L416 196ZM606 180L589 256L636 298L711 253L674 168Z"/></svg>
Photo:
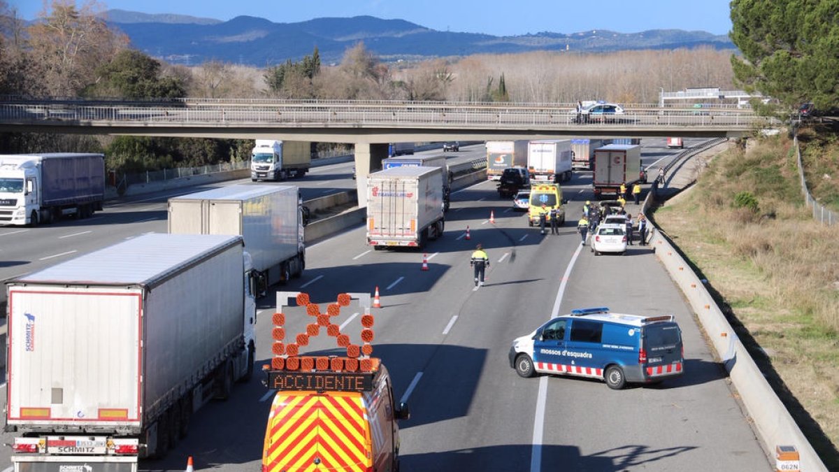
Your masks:
<svg viewBox="0 0 839 472"><path fill-rule="evenodd" d="M279 292L278 301L289 293ZM373 317L369 294L364 295L367 312L362 317L362 338L369 340ZM307 300L305 296L303 301ZM338 305L341 296L334 304ZM298 334L291 344L283 342L284 313L278 309L274 314L275 356L266 366L265 384L277 393L265 429L263 472L399 470L397 422L409 419L408 406L396 405L393 383L380 359L364 354L372 352L372 346L352 344L330 323L330 316L336 314L332 307L328 314L307 307L317 323L310 323L306 333ZM369 333L365 334L366 330ZM308 344L308 337L319 332L334 336L339 345L347 347L347 356L300 355L299 346Z"/></svg>

